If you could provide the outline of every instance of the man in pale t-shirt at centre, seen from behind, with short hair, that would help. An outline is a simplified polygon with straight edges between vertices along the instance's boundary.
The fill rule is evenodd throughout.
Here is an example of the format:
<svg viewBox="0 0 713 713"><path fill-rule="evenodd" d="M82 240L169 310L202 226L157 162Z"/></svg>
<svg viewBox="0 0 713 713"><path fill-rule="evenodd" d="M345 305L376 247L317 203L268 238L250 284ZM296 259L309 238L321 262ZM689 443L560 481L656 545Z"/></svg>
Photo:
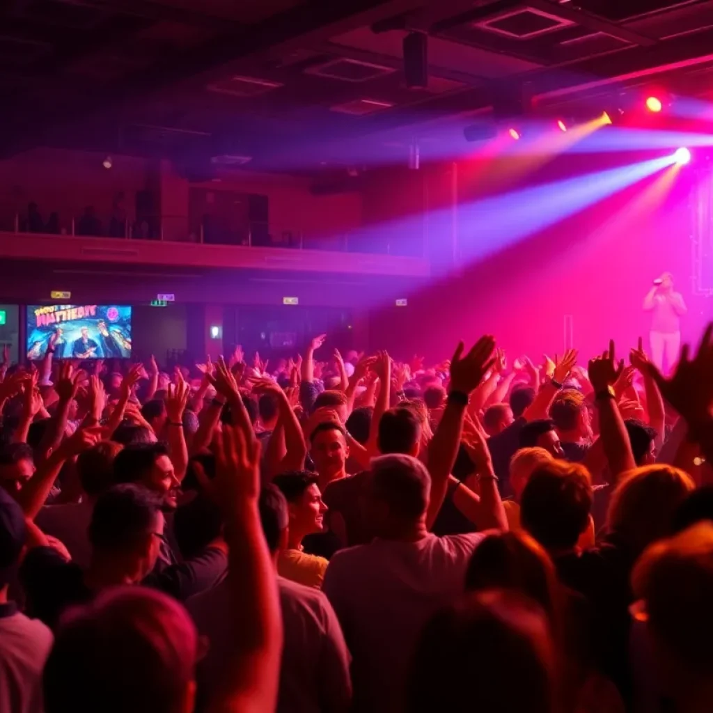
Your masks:
<svg viewBox="0 0 713 713"><path fill-rule="evenodd" d="M354 657L354 707L398 712L411 655L429 617L463 591L481 533L439 538L426 528L431 477L411 456L371 461L366 508L376 539L341 550L323 591Z"/></svg>

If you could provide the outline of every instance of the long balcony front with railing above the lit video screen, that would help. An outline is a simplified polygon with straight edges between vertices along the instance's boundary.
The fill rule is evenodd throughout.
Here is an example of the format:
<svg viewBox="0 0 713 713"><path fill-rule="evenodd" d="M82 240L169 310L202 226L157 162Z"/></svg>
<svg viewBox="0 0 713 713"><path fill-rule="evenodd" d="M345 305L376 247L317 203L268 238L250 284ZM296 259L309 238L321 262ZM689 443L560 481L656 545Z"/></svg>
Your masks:
<svg viewBox="0 0 713 713"><path fill-rule="evenodd" d="M422 257L423 241L406 235L395 243L389 237L368 229L322 237L257 222L242 230L213 230L202 224L190 230L187 216L170 215L138 224L130 220L106 223L91 216L41 224L16 216L11 227L0 220L0 255L15 259L41 256L46 260L86 262L429 275L429 263Z"/></svg>

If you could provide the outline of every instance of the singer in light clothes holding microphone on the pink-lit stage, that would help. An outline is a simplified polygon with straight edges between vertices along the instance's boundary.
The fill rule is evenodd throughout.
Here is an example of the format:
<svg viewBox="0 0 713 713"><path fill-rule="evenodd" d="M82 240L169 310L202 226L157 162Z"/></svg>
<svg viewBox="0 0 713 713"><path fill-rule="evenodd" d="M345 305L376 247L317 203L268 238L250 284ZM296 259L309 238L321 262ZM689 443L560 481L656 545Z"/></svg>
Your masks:
<svg viewBox="0 0 713 713"><path fill-rule="evenodd" d="M681 349L681 315L687 307L680 292L674 292L673 278L670 272L664 272L654 280L654 286L644 299L644 309L652 313L651 319L651 361L664 371L671 371L678 361Z"/></svg>

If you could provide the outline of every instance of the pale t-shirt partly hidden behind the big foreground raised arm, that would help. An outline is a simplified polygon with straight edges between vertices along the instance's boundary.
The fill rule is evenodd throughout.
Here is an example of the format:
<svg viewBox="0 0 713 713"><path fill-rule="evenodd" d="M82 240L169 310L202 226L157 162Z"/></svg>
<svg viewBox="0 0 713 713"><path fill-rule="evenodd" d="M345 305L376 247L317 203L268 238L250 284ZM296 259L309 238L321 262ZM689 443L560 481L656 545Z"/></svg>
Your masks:
<svg viewBox="0 0 713 713"><path fill-rule="evenodd" d="M339 620L319 590L277 578L284 645L277 713L347 713L352 703L351 657ZM223 673L235 632L227 580L190 597L186 608L208 652L198 665L199 699L210 701ZM206 696L207 698L204 698Z"/></svg>

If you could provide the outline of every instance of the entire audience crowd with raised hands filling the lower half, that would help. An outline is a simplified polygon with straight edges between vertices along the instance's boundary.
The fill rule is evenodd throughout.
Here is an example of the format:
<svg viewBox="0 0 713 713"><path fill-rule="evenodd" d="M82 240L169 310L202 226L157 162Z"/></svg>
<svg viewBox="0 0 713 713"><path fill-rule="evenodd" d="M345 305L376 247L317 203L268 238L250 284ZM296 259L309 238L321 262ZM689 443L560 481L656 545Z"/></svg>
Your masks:
<svg viewBox="0 0 713 713"><path fill-rule="evenodd" d="M0 711L709 711L712 335L5 357Z"/></svg>

